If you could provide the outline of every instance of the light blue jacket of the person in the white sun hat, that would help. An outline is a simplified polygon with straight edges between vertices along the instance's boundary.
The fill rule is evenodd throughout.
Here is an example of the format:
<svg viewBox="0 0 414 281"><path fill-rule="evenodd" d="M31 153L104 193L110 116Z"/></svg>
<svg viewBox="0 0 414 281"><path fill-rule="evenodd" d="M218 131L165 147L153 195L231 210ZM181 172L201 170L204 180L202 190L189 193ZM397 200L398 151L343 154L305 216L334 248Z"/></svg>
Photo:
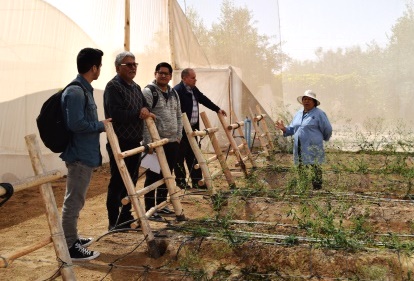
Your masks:
<svg viewBox="0 0 414 281"><path fill-rule="evenodd" d="M323 141L328 141L332 135L332 126L325 112L315 107L303 117L303 110L299 110L283 134L285 137L292 135L295 164L299 163L299 141L303 164L321 164L325 160Z"/></svg>

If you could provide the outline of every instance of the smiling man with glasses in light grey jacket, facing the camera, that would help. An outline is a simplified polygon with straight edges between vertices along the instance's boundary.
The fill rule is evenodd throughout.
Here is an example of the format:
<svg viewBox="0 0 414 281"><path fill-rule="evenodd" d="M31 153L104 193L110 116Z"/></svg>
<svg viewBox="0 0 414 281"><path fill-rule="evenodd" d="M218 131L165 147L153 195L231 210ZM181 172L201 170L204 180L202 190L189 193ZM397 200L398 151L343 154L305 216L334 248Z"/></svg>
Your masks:
<svg viewBox="0 0 414 281"><path fill-rule="evenodd" d="M155 80L142 91L152 113L157 116L155 125L157 126L160 138L167 138L169 140L169 142L163 146L163 149L171 172L177 162L179 143L183 129L180 99L178 98L177 92L168 85L171 80L172 72L173 69L170 64L166 62L159 63L155 67ZM148 128L145 126L144 143L150 142L152 142L152 139L149 135ZM162 178L161 171L160 173L156 173L147 170L144 186L148 186ZM147 211L154 207L155 204L158 205L167 199L167 186L165 184L159 186L156 193L156 197L155 190L145 194L145 209ZM174 214L174 212L168 208L163 208L159 210L159 212L161 214ZM162 217L158 213L154 213L150 219L162 220Z"/></svg>

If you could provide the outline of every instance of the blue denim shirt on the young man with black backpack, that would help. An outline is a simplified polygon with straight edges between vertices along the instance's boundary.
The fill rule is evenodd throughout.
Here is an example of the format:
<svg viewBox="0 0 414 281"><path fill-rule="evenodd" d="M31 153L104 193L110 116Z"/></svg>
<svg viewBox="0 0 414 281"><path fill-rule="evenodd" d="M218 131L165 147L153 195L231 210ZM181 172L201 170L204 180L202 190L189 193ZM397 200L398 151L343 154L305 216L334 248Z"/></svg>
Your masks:
<svg viewBox="0 0 414 281"><path fill-rule="evenodd" d="M89 167L98 167L102 164L99 134L105 127L98 120L91 84L79 74L74 81L80 82L86 89L87 105L85 107L86 99L81 87L70 86L63 92L63 114L66 125L73 134L60 158L67 163L80 161Z"/></svg>

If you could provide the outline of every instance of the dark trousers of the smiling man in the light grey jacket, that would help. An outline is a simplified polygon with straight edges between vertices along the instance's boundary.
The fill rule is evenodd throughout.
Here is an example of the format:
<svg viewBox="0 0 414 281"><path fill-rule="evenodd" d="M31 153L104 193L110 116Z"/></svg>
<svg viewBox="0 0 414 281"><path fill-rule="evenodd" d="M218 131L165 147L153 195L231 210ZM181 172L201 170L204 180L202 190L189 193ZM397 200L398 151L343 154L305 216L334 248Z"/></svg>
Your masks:
<svg viewBox="0 0 414 281"><path fill-rule="evenodd" d="M170 168L170 171L172 173L174 165L177 163L177 156L178 156L178 142L169 142L165 145L163 145L165 157L167 158L168 167ZM159 174L154 173L151 170L147 170L146 172L146 178L144 186L148 186L150 184L153 184L156 181L159 181L160 179L163 179L164 176L162 175L162 171L160 171ZM145 210L148 211L155 205L158 205L165 200L167 200L168 195L168 189L165 184L160 185L157 188L157 198L155 198L155 190L152 190L145 194Z"/></svg>

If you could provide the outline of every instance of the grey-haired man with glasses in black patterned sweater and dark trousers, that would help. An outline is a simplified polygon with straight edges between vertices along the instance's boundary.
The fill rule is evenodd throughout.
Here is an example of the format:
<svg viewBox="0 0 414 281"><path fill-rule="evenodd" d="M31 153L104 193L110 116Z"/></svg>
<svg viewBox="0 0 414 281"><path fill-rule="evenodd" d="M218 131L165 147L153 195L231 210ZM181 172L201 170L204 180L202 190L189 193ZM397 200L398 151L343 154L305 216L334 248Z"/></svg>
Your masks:
<svg viewBox="0 0 414 281"><path fill-rule="evenodd" d="M140 146L144 119L151 116L149 107L141 92L141 87L133 81L137 74L138 63L131 52L122 52L115 58L116 75L106 84L104 92L105 117L112 118L115 134L121 151ZM109 155L111 179L108 185L106 208L108 211L108 230L129 228L134 218L131 203L123 206L121 200L128 195L118 165L109 142L106 144ZM124 159L134 185L138 181L141 153ZM121 210L120 210L121 208Z"/></svg>

